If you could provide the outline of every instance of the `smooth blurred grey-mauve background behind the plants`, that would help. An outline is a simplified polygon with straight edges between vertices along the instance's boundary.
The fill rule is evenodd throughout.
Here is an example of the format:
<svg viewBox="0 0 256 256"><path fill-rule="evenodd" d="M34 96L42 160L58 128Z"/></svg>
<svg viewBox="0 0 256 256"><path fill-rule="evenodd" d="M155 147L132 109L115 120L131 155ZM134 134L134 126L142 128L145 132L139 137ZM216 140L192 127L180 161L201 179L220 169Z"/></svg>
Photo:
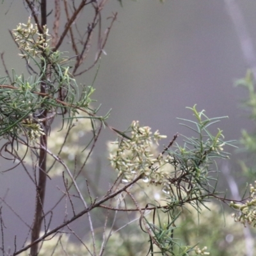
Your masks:
<svg viewBox="0 0 256 256"><path fill-rule="evenodd" d="M121 8L116 0L111 0L104 9L104 17L115 11L118 17L104 49L107 55L102 56L94 84L94 99L102 104L100 113L103 115L112 108L109 124L122 130L132 120L140 120L142 125L159 129L171 140L176 132L188 134L184 127L179 126L176 117L192 118L186 106L198 104L198 109L205 109L210 117L229 116L218 125L223 129L226 140L239 139L242 128L253 131L253 125L244 111L239 109L246 92L234 87L234 81L244 77L248 66L225 1L123 2L124 7ZM256 1L241 0L236 3L256 46ZM15 28L19 22L26 23L28 15L22 1L0 4L0 52L4 51L6 65L15 68L17 74L26 74L26 68L17 56L17 47L8 29ZM93 60L93 51L91 54ZM0 67L0 75L4 76L1 63ZM95 69L79 77L79 82L89 85L94 75ZM113 138L113 134L106 131L100 141L105 143ZM103 145L98 146L95 156L104 156ZM230 165L236 166L236 152L233 148L227 150L233 152ZM0 170L3 170L6 163L1 160L0 164ZM102 168L106 166L103 163ZM19 170L0 175L0 195L3 197L9 189L8 204L31 223L35 191L29 191L29 182ZM47 186L50 191L56 191L54 182L49 182ZM49 198L56 200L58 196L48 193L46 202ZM5 232L6 243L12 247L15 234L22 233L25 226L14 215L4 221L8 228Z"/></svg>

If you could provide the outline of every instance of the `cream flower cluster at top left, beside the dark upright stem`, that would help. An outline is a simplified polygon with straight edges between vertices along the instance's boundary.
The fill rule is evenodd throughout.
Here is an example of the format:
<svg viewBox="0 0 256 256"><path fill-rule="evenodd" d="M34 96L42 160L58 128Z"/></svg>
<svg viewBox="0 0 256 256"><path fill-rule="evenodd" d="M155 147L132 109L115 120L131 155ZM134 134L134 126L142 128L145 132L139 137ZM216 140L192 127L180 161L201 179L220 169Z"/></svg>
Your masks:
<svg viewBox="0 0 256 256"><path fill-rule="evenodd" d="M49 49L50 39L46 40L46 37L49 36L48 29L46 26L43 26L43 34L38 33L38 27L35 24L31 24L31 17L28 19L27 24L19 24L17 29L13 29L13 36L19 48L22 49L25 53L19 54L21 58L29 59L30 56L39 57L43 51ZM34 36L36 35L36 38Z"/></svg>

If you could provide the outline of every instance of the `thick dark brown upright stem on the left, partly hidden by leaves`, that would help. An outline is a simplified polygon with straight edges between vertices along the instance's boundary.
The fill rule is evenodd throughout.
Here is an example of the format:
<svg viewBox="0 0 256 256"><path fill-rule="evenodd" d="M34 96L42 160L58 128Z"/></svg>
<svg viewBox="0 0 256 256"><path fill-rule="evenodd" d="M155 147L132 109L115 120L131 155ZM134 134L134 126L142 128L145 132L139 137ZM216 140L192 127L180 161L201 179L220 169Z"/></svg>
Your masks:
<svg viewBox="0 0 256 256"><path fill-rule="evenodd" d="M41 26L45 26L47 24L47 0L42 0L40 4L41 8ZM42 61L42 66L45 65L44 62ZM45 93L45 86L46 84L44 82L41 83L40 86L40 92ZM44 105L42 105L42 109L44 109ZM45 110L42 113L42 118L47 116L47 111ZM44 127L45 127L45 135L42 135L40 137L40 152L39 152L39 162L38 162L38 167L39 167L39 178L38 178L38 183L36 185L36 207L35 207L35 218L34 218L34 223L32 227L32 232L31 232L31 243L35 241L36 239L39 238L40 236L40 230L41 230L41 225L42 225L42 220L44 219L44 198L45 198L45 186L46 186L46 161L47 161L47 151L45 148L47 148L47 133L49 129L47 129L47 120L43 122ZM38 255L38 243L33 245L30 250L30 255L31 256L36 256Z"/></svg>

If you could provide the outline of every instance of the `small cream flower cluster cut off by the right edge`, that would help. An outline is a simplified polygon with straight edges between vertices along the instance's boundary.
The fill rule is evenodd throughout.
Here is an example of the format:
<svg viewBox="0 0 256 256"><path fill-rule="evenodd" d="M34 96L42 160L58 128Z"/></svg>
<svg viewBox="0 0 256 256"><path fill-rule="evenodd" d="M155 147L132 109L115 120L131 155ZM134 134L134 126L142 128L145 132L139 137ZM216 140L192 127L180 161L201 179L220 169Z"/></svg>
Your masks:
<svg viewBox="0 0 256 256"><path fill-rule="evenodd" d="M230 202L229 206L233 209L237 210L239 213L233 213L232 218L235 221L239 221L243 223L244 227L246 227L246 223L249 225L253 225L256 227L256 181L254 182L254 186L250 184L250 200L247 200L245 204L236 204L234 202Z"/></svg>

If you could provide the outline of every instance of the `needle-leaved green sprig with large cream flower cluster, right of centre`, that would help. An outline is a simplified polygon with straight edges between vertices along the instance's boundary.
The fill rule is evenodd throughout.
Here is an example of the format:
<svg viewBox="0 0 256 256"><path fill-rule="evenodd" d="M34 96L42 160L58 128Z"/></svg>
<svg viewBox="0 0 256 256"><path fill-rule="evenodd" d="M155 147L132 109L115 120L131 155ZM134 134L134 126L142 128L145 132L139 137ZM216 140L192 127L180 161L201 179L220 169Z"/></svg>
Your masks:
<svg viewBox="0 0 256 256"><path fill-rule="evenodd" d="M141 175L145 184L160 187L159 190L165 193L165 204L154 210L153 217L141 217L141 227L150 237L152 253L188 255L195 251L207 255L205 249L180 244L175 236L179 229L176 223L179 222L184 207L191 205L200 214L202 207L206 207L207 200L218 198L217 175L212 174L216 172L212 170L212 163L216 158L228 158L227 152L223 152L223 146L231 145L231 141L223 141L220 129L216 134L209 131L209 127L220 122L220 118L208 118L204 111L198 112L195 106L189 109L193 111L196 120L180 120L192 125L182 124L194 131L195 137L183 136L184 145L180 146L176 141L174 145L173 140L156 156L156 145L152 146L150 128L140 127L136 122L131 125L131 135L126 133L129 139L122 138L111 148L111 165L119 172L124 183ZM148 195L150 197L152 195ZM158 204L159 200L154 205L157 207ZM149 201L148 205L152 205L152 202ZM152 218L153 221L150 221Z"/></svg>

